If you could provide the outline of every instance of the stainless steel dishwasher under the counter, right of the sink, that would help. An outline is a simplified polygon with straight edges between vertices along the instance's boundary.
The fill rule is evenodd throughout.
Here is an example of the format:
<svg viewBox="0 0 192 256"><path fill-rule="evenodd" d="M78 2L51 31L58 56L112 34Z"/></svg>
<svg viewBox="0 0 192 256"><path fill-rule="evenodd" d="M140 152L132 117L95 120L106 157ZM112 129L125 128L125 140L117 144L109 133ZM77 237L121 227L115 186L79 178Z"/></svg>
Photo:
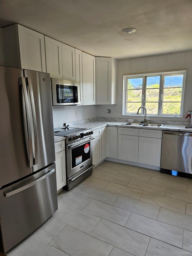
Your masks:
<svg viewBox="0 0 192 256"><path fill-rule="evenodd" d="M192 174L192 133L163 131L161 172L165 173L163 170Z"/></svg>

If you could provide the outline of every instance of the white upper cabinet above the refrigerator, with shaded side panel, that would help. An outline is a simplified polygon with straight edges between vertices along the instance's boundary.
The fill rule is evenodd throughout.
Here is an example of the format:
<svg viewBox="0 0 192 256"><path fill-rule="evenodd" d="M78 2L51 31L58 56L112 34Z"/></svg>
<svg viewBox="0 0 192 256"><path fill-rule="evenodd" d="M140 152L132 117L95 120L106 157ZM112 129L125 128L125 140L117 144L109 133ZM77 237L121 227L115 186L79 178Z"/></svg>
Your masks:
<svg viewBox="0 0 192 256"><path fill-rule="evenodd" d="M44 35L19 24L2 33L6 66L46 72Z"/></svg>

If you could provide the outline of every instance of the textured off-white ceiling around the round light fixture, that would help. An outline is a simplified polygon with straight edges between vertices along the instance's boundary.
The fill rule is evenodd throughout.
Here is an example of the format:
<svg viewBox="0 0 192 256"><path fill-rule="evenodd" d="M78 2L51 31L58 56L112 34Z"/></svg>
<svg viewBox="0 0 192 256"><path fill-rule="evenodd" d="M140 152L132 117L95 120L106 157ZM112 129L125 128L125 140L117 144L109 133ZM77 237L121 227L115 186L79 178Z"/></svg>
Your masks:
<svg viewBox="0 0 192 256"><path fill-rule="evenodd" d="M192 49L192 0L0 0L0 27L13 23L95 56Z"/></svg>

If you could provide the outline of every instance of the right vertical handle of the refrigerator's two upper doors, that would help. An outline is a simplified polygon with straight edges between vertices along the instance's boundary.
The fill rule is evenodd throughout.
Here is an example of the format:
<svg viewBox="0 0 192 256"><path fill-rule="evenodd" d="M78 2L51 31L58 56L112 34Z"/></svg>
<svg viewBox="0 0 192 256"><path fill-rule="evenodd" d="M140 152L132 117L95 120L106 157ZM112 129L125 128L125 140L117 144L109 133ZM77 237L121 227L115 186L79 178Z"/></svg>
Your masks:
<svg viewBox="0 0 192 256"><path fill-rule="evenodd" d="M38 136L37 136L37 118L36 118L36 111L35 111L35 101L34 101L34 95L33 95L33 88L32 88L32 82L31 78L27 77L27 82L29 86L29 94L30 94L30 101L31 101L31 107L32 107L32 119L33 119L33 129L34 129L34 160L33 164L38 164Z"/></svg>

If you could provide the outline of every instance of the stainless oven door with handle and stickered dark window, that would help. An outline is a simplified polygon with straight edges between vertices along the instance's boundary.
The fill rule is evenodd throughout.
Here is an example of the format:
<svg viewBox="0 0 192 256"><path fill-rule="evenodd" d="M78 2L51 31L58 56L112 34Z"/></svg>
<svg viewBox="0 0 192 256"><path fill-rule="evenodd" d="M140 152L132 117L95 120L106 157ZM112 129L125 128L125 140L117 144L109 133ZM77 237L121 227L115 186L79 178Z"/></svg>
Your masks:
<svg viewBox="0 0 192 256"><path fill-rule="evenodd" d="M66 146L67 148L67 178L92 164L93 137L76 141Z"/></svg>

